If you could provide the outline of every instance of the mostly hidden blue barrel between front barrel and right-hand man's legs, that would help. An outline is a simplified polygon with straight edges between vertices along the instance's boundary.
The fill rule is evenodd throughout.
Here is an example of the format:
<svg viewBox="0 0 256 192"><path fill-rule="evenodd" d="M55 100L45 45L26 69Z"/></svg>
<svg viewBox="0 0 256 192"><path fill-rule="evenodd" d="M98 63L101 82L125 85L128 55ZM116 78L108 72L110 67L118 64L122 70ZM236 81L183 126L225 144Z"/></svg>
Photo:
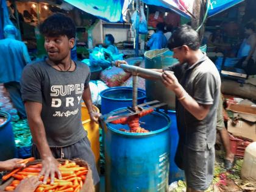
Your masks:
<svg viewBox="0 0 256 192"><path fill-rule="evenodd" d="M171 119L171 127L169 129L170 133L170 152L169 152L169 184L175 182L177 180L184 180L184 171L178 168L176 163L174 162L174 157L176 154L178 142L179 142L179 133L177 128L177 119L176 112L173 110L168 110L169 118Z"/></svg>

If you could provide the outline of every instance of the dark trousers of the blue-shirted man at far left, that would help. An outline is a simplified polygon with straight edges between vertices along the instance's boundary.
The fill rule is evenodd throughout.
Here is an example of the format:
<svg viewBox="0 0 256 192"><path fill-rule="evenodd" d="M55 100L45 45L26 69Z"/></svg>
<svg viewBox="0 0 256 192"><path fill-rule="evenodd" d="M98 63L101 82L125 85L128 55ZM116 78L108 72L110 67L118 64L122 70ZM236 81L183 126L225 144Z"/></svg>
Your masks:
<svg viewBox="0 0 256 192"><path fill-rule="evenodd" d="M21 85L20 82L7 82L4 83L4 87L10 94L10 99L14 105L14 107L18 110L18 114L21 118L26 118L26 111L21 99Z"/></svg>

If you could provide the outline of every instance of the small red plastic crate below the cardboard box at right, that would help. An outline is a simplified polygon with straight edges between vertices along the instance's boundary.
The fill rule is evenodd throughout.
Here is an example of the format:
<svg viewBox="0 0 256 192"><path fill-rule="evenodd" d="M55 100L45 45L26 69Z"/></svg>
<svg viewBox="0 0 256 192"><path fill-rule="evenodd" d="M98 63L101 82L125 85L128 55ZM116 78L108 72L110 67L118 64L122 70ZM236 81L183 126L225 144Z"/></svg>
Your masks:
<svg viewBox="0 0 256 192"><path fill-rule="evenodd" d="M252 143L251 141L243 140L241 138L233 137L229 135L231 152L236 155L236 157L244 158L244 151L246 147Z"/></svg>

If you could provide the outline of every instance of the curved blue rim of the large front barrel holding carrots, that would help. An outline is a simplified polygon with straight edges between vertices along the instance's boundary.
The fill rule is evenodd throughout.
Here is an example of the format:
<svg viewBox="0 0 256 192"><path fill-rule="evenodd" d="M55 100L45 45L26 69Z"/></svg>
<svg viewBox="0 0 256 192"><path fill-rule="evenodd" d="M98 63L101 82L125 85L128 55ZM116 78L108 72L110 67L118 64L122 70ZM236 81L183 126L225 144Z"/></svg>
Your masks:
<svg viewBox="0 0 256 192"><path fill-rule="evenodd" d="M126 108L126 107L124 107L124 108ZM120 110L120 109L122 109L122 108L118 108L118 110ZM166 120L168 121L168 124L165 127L163 127L162 129L154 130L154 131L151 131L151 132L148 132L148 133L123 132L121 130L113 129L113 127L111 127L109 125L110 123L107 123L106 126L107 126L107 129L109 129L112 132L115 132L119 135L130 136L130 137L151 136L151 135L155 135L155 134L160 133L160 132L164 132L165 130L168 130L169 127L171 126L171 119L169 118L169 116L166 113L162 112L162 111L157 112L156 110L154 110L154 112L152 112L152 113L160 113L161 115L163 115L166 118Z"/></svg>

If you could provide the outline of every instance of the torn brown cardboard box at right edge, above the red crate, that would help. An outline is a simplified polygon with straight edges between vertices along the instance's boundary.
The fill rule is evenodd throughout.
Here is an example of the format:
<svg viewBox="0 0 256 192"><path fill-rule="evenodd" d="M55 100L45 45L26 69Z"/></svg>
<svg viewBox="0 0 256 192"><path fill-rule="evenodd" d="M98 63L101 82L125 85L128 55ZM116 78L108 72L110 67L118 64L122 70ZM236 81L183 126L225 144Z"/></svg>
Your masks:
<svg viewBox="0 0 256 192"><path fill-rule="evenodd" d="M236 113L237 119L230 119L227 130L237 137L256 141L256 107L243 104L231 104L228 110Z"/></svg>

